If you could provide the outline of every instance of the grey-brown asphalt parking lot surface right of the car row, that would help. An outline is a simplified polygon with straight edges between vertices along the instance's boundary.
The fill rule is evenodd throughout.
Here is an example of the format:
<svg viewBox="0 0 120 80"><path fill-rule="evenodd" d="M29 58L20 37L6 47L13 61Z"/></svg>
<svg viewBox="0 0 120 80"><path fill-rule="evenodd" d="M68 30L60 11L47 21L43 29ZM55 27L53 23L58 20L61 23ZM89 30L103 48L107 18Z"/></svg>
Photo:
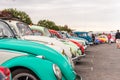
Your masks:
<svg viewBox="0 0 120 80"><path fill-rule="evenodd" d="M75 67L83 80L120 80L120 49L115 43L89 46Z"/></svg>

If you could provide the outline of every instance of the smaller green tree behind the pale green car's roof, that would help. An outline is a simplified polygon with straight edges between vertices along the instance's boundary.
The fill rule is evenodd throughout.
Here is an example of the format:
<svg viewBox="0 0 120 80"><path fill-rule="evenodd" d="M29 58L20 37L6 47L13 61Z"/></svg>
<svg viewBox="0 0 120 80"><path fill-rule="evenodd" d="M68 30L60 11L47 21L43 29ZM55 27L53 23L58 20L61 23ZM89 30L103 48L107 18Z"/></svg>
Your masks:
<svg viewBox="0 0 120 80"><path fill-rule="evenodd" d="M40 20L38 21L37 25L46 27L48 29L59 30L59 27L53 21L49 20Z"/></svg>

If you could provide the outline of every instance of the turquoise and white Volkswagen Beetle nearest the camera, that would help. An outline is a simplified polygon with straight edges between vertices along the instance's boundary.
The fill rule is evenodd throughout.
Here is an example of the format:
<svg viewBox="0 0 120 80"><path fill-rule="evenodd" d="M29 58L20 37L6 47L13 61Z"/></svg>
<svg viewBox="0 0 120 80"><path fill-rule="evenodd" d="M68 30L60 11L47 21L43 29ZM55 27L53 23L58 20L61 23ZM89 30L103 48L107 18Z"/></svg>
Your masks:
<svg viewBox="0 0 120 80"><path fill-rule="evenodd" d="M13 80L81 80L54 49L15 38L9 25L0 20L0 53L5 55L0 56L0 64L10 68Z"/></svg>

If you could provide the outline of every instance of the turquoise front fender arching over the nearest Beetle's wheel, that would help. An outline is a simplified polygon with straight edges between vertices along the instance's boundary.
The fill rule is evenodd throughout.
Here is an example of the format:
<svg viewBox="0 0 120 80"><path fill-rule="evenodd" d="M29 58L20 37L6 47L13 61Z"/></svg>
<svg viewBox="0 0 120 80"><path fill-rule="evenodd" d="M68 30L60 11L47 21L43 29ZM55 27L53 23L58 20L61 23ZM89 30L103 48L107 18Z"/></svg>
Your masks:
<svg viewBox="0 0 120 80"><path fill-rule="evenodd" d="M10 69L24 67L33 71L41 80L57 80L53 72L53 63L33 56L12 58L2 64Z"/></svg>

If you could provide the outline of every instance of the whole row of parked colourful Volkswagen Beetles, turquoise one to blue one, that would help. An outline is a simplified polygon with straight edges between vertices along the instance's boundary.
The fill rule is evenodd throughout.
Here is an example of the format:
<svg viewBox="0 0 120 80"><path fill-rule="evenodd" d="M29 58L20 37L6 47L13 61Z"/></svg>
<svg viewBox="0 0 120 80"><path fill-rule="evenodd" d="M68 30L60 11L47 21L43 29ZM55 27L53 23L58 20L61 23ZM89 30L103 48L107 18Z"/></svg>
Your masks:
<svg viewBox="0 0 120 80"><path fill-rule="evenodd" d="M71 36L1 17L0 80L82 80L74 64L89 44L93 42L87 32Z"/></svg>

